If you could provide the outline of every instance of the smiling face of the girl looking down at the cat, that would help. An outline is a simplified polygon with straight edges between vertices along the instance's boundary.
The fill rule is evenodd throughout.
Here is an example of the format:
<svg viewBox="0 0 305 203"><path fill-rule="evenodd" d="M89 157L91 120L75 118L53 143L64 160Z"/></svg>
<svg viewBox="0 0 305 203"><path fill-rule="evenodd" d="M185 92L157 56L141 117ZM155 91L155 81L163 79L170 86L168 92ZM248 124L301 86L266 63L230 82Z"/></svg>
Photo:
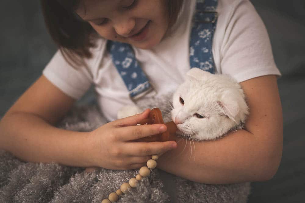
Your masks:
<svg viewBox="0 0 305 203"><path fill-rule="evenodd" d="M149 49L160 43L168 28L164 2L83 0L76 12L105 39Z"/></svg>

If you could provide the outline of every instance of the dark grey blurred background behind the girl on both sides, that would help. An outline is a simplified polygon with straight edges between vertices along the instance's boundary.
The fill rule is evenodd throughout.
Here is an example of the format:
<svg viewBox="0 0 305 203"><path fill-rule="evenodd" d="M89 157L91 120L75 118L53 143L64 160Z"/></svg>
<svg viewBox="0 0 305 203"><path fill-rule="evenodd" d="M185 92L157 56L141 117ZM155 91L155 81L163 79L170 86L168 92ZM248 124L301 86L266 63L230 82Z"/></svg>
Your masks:
<svg viewBox="0 0 305 203"><path fill-rule="evenodd" d="M249 202L305 199L305 1L251 0L269 33L284 116L282 162L274 178L252 183ZM40 75L54 52L38 1L0 6L0 117Z"/></svg>

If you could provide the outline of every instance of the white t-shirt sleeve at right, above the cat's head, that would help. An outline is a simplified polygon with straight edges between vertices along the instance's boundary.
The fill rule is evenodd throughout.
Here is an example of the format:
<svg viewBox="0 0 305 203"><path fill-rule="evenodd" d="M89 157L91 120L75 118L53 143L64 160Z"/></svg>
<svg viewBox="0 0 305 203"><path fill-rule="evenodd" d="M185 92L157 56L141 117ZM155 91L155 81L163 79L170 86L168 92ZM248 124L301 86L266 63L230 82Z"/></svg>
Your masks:
<svg viewBox="0 0 305 203"><path fill-rule="evenodd" d="M221 72L238 82L281 75L275 65L266 27L248 0L234 2L221 49Z"/></svg>

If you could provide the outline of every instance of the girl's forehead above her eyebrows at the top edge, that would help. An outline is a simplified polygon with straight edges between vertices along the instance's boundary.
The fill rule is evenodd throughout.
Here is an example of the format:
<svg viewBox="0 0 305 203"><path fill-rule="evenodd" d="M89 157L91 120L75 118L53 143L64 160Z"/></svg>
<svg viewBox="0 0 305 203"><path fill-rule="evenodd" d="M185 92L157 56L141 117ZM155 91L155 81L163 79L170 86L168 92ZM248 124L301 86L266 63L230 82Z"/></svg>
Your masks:
<svg viewBox="0 0 305 203"><path fill-rule="evenodd" d="M122 0L81 0L75 12L81 17L92 19L94 16L110 12Z"/></svg>

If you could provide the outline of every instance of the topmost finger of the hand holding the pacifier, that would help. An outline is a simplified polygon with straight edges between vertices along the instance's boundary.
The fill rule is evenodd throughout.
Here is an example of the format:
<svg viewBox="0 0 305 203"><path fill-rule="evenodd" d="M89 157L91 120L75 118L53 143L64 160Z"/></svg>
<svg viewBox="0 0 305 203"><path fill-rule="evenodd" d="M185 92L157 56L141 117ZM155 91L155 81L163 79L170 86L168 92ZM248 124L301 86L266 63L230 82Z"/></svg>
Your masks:
<svg viewBox="0 0 305 203"><path fill-rule="evenodd" d="M125 126L136 125L143 119L147 118L149 113L150 113L150 109L146 109L141 114L135 114L133 116L129 116L126 118L121 118L116 121L112 121L109 124L111 124L113 127L125 127Z"/></svg>

